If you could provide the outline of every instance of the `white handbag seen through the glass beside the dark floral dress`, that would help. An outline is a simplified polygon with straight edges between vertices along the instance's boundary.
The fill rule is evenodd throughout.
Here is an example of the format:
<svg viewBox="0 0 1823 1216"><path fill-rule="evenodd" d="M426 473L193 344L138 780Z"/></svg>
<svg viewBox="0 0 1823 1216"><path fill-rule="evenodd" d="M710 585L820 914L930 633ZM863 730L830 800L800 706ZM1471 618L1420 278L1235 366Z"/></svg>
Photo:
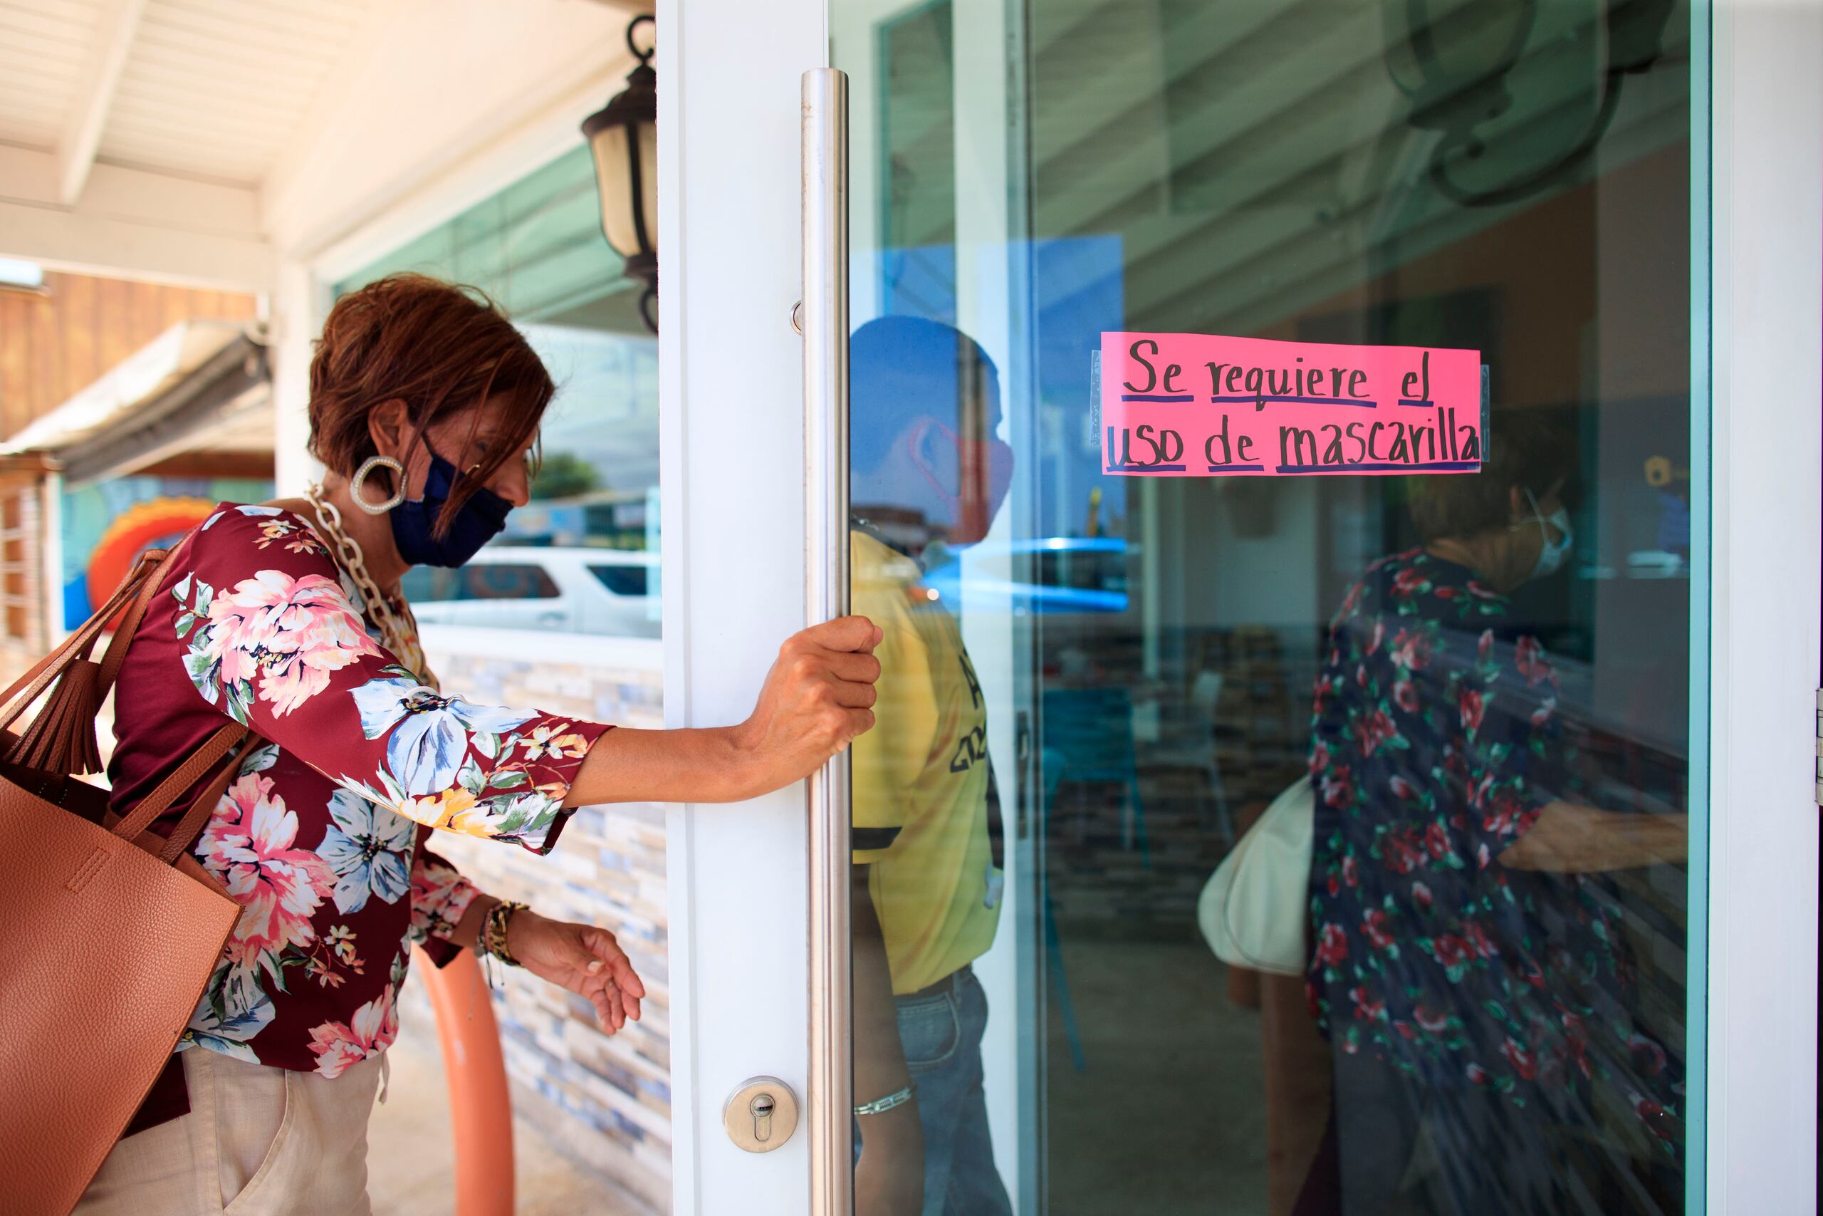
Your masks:
<svg viewBox="0 0 1823 1216"><path fill-rule="evenodd" d="M1300 777L1265 808L1203 884L1196 922L1216 957L1269 975L1303 975L1316 800Z"/></svg>

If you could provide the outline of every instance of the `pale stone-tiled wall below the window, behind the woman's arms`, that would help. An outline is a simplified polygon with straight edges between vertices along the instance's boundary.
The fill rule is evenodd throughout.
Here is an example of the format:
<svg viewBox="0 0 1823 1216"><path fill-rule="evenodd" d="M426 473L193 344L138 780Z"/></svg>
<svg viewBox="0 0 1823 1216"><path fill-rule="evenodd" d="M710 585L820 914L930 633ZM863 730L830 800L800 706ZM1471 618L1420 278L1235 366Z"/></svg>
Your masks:
<svg viewBox="0 0 1823 1216"><path fill-rule="evenodd" d="M443 687L489 706L536 706L616 726L664 726L658 642L425 627ZM523 645L521 645L523 644ZM509 654L521 654L510 658ZM532 658L532 656L540 658ZM576 654L582 662L563 662ZM644 1017L616 1036L587 1001L494 968L514 1108L571 1158L664 1212L671 1205L671 1001L665 824L656 804L578 809L549 857L443 835L434 848L489 895L613 930L645 979ZM434 1025L417 984L407 1021Z"/></svg>

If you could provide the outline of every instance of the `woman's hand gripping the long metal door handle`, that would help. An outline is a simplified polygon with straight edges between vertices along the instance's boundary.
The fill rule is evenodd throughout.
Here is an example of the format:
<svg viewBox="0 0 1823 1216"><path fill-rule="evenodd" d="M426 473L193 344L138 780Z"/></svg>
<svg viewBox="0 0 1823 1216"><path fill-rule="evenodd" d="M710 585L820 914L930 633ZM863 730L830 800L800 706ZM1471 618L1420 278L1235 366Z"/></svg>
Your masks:
<svg viewBox="0 0 1823 1216"><path fill-rule="evenodd" d="M755 793L809 777L873 727L879 640L866 616L839 616L786 638L753 716L733 731Z"/></svg>

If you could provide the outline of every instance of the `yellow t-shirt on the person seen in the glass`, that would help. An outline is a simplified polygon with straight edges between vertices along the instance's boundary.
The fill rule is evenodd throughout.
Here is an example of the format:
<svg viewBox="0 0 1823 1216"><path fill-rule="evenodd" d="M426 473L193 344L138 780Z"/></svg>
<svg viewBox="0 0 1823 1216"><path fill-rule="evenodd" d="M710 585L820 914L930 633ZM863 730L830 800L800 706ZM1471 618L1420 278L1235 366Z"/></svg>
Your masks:
<svg viewBox="0 0 1823 1216"><path fill-rule="evenodd" d="M955 616L917 563L850 532L853 611L882 638L875 726L853 747L855 864L886 939L893 994L986 953L1001 919L988 839L988 707Z"/></svg>

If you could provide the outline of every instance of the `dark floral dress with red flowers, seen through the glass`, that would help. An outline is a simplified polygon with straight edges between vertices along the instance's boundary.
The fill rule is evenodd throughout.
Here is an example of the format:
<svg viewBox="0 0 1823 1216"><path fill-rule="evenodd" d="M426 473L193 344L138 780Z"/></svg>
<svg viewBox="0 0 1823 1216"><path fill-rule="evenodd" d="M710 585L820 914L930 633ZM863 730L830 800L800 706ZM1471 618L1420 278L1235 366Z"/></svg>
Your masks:
<svg viewBox="0 0 1823 1216"><path fill-rule="evenodd" d="M1588 1123L1602 1087L1670 1149L1681 1065L1633 1023L1617 901L1499 860L1581 784L1559 695L1466 567L1404 552L1349 591L1316 682L1311 1006L1431 1090Z"/></svg>

